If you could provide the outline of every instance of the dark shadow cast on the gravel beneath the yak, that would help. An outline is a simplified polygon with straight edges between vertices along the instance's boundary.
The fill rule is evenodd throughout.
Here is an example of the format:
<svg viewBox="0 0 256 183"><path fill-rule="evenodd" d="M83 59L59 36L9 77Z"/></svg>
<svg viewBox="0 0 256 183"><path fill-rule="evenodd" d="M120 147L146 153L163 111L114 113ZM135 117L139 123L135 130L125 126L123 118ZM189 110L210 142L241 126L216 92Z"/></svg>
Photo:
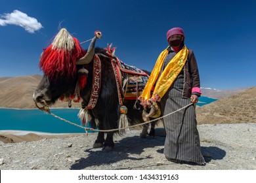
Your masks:
<svg viewBox="0 0 256 183"><path fill-rule="evenodd" d="M164 141L165 137L155 137L154 139L140 139L139 136L126 137L116 142L112 152L102 152L100 148L85 150L85 152L89 153L88 157L79 159L79 161L72 165L70 169L85 169L87 167L104 164L113 165L122 160L140 161L142 159L152 159L152 156L143 156L140 158L140 154L142 154L146 148L163 146Z"/></svg>

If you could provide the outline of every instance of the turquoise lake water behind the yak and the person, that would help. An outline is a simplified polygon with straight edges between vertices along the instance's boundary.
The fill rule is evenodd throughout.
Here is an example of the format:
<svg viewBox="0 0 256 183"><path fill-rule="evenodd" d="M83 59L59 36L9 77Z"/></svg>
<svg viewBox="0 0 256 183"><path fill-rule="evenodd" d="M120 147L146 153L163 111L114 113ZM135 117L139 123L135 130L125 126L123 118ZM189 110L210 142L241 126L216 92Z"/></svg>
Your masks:
<svg viewBox="0 0 256 183"><path fill-rule="evenodd" d="M216 100L217 99L208 97L200 97L198 105L206 105ZM51 112L70 122L81 125L77 117L79 109L51 108ZM0 116L0 130L39 131L46 133L85 133L85 129L63 122L38 109L18 110L0 108Z"/></svg>

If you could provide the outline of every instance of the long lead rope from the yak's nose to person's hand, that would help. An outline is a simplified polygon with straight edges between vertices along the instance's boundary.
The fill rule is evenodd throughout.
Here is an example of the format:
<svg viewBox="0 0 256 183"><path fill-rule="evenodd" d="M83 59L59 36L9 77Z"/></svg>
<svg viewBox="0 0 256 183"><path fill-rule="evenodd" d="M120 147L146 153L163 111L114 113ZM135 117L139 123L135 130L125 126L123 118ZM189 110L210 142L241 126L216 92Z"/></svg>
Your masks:
<svg viewBox="0 0 256 183"><path fill-rule="evenodd" d="M45 102L44 100L43 100L43 103L46 104L46 102ZM60 119L60 120L62 120L62 121L64 121L64 122L67 122L68 124L72 124L72 125L75 125L75 126L77 126L77 127L83 128L83 129L85 129L86 133L87 133L88 130L90 130L90 131L99 131L99 132L112 132L112 131L119 131L119 130L122 130L122 129L127 129L127 128L130 128L130 127L137 127L137 126L139 126L139 125L149 124L149 123L151 123L151 122L155 122L155 121L157 121L157 120L160 120L161 118L165 118L166 116L169 116L169 115L171 115L171 114L174 114L175 112L178 112L179 110L182 110L183 108L187 108L187 107L189 107L190 105L194 105L194 103L190 103L189 105L186 105L186 106L184 106L184 107L182 107L182 108L179 108L178 110L175 110L174 112L171 112L171 113L169 113L169 114L166 114L165 116L161 116L160 118L156 118L156 119L154 119L154 120L150 120L150 121L144 122L144 123L142 123L142 124L131 125L131 126L129 126L129 127L121 127L121 128L118 128L118 129L93 129L93 128L90 128L90 127L83 127L83 126L81 126L81 125L77 125L77 124L75 124L75 123L73 123L73 122L70 122L70 121L65 120L65 119L63 119L63 118L60 118L60 116L57 116L56 114L53 114L53 113L50 112L48 105L40 108L40 107L38 107L37 103L35 103L35 106L36 106L37 108L39 108L39 110L45 111L45 112L47 112L48 114L51 114L52 116L54 116L55 118L58 118L58 119ZM45 109L46 109L46 110L45 110Z"/></svg>

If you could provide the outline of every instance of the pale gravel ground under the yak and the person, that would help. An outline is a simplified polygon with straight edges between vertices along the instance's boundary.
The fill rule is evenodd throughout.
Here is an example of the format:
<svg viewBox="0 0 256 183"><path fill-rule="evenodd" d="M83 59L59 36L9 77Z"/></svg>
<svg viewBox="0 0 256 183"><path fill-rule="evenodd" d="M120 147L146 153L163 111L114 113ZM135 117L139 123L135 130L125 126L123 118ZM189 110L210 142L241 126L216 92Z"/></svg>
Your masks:
<svg viewBox="0 0 256 183"><path fill-rule="evenodd" d="M96 133L33 142L0 141L0 169L256 170L256 124L203 124L198 131L205 166L167 161L165 137L140 139L140 131L131 130L115 136L112 152L92 148Z"/></svg>

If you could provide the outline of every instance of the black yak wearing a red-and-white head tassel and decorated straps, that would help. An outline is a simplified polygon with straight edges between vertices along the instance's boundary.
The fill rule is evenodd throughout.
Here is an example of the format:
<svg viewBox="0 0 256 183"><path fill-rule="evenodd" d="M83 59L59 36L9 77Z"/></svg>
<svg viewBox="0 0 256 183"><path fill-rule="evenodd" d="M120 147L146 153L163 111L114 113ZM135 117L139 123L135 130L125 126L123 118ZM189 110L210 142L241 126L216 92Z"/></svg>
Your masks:
<svg viewBox="0 0 256 183"><path fill-rule="evenodd" d="M112 61L117 61L114 48L110 46L108 49L95 48L96 39L100 37L101 33L95 31L95 37L88 50L83 50L77 39L72 37L66 29L61 29L53 43L41 54L39 67L44 75L33 93L33 101L51 106L58 99L69 101L74 98L81 99L84 108L82 110L91 116L91 124L99 130L118 129L122 115L126 115L128 125L141 124L144 122L143 108L135 107L136 99L125 99L122 93L118 92L121 89L117 84L117 73L112 65ZM99 63L101 67L97 71L95 65ZM95 74L97 72L100 76ZM142 74L148 77L143 71ZM100 86L95 84L98 80L100 80L98 84ZM122 113L123 106L127 111ZM112 150L115 133L119 131L107 133L99 131L93 148ZM146 137L147 134L148 124L142 125L140 137Z"/></svg>

